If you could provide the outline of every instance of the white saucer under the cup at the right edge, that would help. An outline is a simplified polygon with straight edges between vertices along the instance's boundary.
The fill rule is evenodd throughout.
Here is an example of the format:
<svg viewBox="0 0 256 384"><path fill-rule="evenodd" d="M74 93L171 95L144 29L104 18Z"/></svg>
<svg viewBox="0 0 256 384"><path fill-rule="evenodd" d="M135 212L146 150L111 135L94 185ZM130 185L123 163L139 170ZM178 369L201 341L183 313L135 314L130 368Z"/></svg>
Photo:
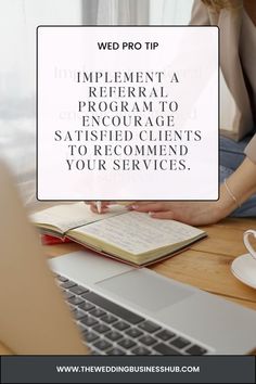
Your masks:
<svg viewBox="0 0 256 384"><path fill-rule="evenodd" d="M256 260L249 254L236 257L231 265L231 271L242 283L256 289Z"/></svg>

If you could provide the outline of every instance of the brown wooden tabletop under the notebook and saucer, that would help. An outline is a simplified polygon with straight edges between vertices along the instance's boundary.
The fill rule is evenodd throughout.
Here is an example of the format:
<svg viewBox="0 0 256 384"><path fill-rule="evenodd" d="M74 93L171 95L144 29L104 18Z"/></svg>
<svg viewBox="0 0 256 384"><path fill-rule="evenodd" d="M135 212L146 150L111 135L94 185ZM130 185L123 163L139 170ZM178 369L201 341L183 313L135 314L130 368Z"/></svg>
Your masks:
<svg viewBox="0 0 256 384"><path fill-rule="evenodd" d="M166 277L256 309L256 290L241 283L230 271L232 260L246 253L243 232L251 228L256 228L256 219L229 218L217 225L204 227L208 238L150 268ZM49 257L79 249L82 249L82 246L75 243L43 247ZM0 354L4 353L7 350L0 344Z"/></svg>

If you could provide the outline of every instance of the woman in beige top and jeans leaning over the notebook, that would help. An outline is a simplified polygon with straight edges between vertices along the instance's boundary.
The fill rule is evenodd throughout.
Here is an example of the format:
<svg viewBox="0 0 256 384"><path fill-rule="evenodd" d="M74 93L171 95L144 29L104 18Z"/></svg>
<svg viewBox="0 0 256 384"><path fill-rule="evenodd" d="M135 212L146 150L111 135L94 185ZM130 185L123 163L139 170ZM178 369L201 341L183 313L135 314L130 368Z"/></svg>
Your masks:
<svg viewBox="0 0 256 384"><path fill-rule="evenodd" d="M137 202L129 208L146 212L153 218L197 226L217 222L231 214L256 217L256 1L195 0L191 24L219 26L221 89L226 87L232 99L226 104L233 106L233 111L231 107L228 111L233 113L232 131L222 130L220 140L220 199ZM222 105L225 113L226 105ZM95 204L91 208L97 212ZM106 209L105 203L102 212Z"/></svg>

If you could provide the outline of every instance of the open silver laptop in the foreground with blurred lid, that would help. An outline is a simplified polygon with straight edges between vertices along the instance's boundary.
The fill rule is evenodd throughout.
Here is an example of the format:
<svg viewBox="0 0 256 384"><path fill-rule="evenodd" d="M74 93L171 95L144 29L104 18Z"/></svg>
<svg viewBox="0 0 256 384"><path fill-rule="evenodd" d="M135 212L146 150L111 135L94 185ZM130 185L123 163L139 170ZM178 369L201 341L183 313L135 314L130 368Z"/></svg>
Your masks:
<svg viewBox="0 0 256 384"><path fill-rule="evenodd" d="M254 310L90 251L48 261L2 164L0 180L0 341L13 354L234 355L256 347Z"/></svg>

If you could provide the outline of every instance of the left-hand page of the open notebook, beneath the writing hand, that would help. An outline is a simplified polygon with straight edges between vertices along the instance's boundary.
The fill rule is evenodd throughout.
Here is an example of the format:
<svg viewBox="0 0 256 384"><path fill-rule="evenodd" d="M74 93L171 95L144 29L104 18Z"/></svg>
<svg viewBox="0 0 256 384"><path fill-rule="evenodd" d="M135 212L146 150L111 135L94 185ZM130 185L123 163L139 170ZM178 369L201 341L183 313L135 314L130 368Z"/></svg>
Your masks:
<svg viewBox="0 0 256 384"><path fill-rule="evenodd" d="M114 215L124 213L125 208L113 206L110 213L104 215L94 214L84 202L75 204L63 204L38 212L30 216L31 221L44 223L59 228L62 232L68 229L88 225L93 221L106 219Z"/></svg>

